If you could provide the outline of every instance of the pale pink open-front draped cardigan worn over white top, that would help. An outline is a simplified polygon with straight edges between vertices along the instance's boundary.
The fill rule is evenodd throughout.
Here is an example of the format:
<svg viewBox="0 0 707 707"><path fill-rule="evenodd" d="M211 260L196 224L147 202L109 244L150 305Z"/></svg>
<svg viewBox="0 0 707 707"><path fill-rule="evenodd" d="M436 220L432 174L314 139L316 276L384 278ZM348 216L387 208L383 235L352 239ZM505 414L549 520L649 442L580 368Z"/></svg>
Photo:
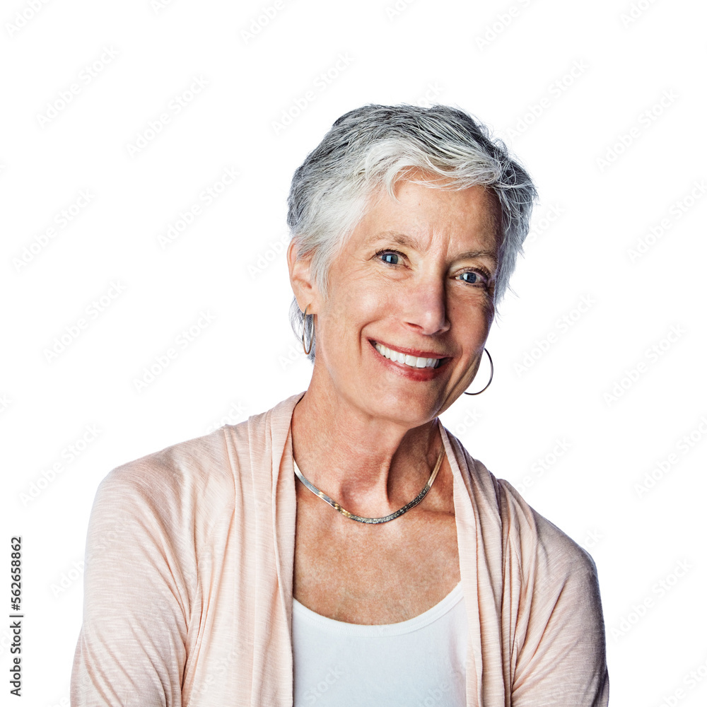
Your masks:
<svg viewBox="0 0 707 707"><path fill-rule="evenodd" d="M72 706L292 705L289 428L302 395L103 479ZM440 431L467 607L467 706L607 705L591 557Z"/></svg>

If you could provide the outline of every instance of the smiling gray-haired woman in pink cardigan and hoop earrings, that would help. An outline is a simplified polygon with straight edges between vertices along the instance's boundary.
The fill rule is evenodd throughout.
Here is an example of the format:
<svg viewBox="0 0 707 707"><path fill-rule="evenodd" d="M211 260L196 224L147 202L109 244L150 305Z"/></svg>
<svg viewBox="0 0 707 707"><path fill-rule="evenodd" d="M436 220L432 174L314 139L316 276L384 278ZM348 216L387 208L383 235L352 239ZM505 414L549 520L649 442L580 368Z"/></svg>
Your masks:
<svg viewBox="0 0 707 707"><path fill-rule="evenodd" d="M308 390L103 480L72 704L607 704L592 559L438 419L534 197L460 110L334 123L289 198Z"/></svg>

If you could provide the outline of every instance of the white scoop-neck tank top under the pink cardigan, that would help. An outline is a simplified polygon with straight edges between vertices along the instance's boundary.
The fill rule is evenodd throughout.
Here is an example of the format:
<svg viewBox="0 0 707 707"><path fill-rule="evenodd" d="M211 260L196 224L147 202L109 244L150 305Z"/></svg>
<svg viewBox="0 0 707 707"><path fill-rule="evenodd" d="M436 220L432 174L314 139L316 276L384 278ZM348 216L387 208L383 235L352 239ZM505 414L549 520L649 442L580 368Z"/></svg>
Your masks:
<svg viewBox="0 0 707 707"><path fill-rule="evenodd" d="M346 624L293 599L294 707L466 705L462 583L397 624Z"/></svg>

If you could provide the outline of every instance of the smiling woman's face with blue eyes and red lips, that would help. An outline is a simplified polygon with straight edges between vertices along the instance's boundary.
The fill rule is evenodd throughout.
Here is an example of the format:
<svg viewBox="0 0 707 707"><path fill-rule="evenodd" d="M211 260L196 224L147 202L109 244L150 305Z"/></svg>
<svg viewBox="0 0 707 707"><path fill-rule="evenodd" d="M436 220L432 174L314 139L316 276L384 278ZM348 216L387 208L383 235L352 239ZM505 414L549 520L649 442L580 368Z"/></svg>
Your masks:
<svg viewBox="0 0 707 707"><path fill-rule="evenodd" d="M501 209L479 186L404 181L396 194L399 201L385 194L368 211L334 259L327 300L314 290L312 385L413 427L447 409L479 367L493 321ZM376 344L434 358L434 366L393 361Z"/></svg>

